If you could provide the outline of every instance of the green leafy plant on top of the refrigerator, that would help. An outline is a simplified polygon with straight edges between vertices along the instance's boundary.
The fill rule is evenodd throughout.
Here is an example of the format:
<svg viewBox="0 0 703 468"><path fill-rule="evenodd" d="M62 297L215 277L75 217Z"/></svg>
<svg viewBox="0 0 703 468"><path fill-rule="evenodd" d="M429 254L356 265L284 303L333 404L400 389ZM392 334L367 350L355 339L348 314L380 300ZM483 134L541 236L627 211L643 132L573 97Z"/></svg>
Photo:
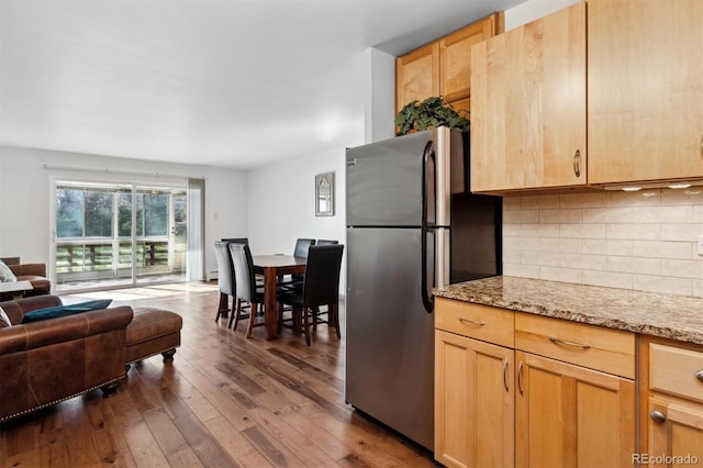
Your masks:
<svg viewBox="0 0 703 468"><path fill-rule="evenodd" d="M451 104L445 105L442 96L427 98L422 102L415 100L409 102L395 115L395 125L398 126L395 135L406 135L413 131L419 132L439 125L468 131L470 122L464 114L455 111Z"/></svg>

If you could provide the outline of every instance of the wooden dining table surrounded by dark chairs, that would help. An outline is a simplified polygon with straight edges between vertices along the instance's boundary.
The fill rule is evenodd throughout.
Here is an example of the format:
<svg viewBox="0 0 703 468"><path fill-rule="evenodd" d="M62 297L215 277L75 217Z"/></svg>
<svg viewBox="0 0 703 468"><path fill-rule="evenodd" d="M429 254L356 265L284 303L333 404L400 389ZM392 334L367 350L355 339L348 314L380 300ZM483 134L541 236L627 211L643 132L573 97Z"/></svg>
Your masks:
<svg viewBox="0 0 703 468"><path fill-rule="evenodd" d="M308 258L292 255L253 255L254 272L264 276L264 327L266 339L278 336L276 285L281 275L304 274Z"/></svg>

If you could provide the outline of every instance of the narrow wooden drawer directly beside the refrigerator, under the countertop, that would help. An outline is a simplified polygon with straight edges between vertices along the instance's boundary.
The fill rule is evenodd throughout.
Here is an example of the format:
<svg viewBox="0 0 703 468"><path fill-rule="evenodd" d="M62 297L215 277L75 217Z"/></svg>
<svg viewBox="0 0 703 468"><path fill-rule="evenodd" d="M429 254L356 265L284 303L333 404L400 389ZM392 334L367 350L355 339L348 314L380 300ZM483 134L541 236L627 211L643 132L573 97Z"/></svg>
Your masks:
<svg viewBox="0 0 703 468"><path fill-rule="evenodd" d="M435 328L513 347L514 312L445 298L437 298L436 305Z"/></svg>

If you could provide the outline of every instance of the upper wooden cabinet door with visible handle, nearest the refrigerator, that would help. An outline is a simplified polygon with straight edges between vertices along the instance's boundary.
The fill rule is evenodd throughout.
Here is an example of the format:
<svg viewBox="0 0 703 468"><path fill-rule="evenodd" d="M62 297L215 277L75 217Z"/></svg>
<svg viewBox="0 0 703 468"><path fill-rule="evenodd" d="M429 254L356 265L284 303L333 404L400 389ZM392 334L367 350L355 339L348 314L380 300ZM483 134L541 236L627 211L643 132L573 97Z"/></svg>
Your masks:
<svg viewBox="0 0 703 468"><path fill-rule="evenodd" d="M585 183L585 3L471 49L471 190Z"/></svg>

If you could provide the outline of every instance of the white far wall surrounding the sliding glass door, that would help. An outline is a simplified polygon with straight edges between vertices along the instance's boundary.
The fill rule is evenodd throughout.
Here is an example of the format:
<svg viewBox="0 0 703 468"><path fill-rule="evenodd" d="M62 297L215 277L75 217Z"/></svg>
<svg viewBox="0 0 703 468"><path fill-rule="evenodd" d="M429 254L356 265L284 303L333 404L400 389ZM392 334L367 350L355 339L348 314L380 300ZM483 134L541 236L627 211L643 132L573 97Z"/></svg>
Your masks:
<svg viewBox="0 0 703 468"><path fill-rule="evenodd" d="M64 166L81 170L44 169ZM83 170L83 169L96 169ZM113 171L145 176L110 175ZM154 177L160 172L182 177ZM127 158L0 146L0 256L22 256L23 261L49 264L49 208L53 177L179 182L186 177L205 178L205 271L216 269L212 243L220 237L247 234L246 175L243 171L196 165L177 165Z"/></svg>

